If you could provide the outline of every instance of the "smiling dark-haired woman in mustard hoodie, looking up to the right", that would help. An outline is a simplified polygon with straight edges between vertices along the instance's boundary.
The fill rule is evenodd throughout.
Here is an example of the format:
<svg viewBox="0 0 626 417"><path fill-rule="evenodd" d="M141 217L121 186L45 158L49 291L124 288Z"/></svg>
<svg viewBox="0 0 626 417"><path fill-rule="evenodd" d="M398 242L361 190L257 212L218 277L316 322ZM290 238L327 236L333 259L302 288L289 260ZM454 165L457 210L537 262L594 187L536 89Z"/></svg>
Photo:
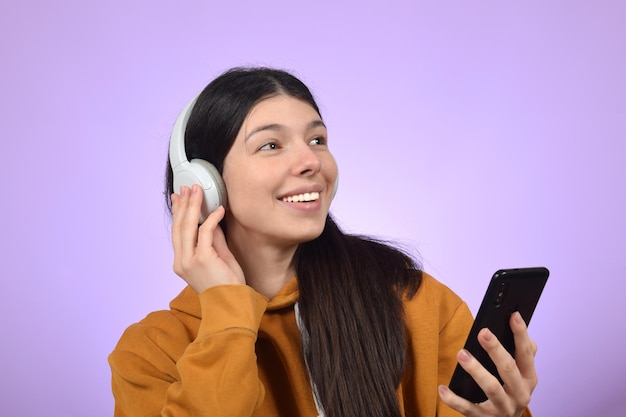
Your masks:
<svg viewBox="0 0 626 417"><path fill-rule="evenodd" d="M536 347L521 318L511 319L515 359L486 329L479 336L503 388L461 350L465 303L329 215L337 165L300 80L224 73L193 106L184 148L221 174L227 208L198 227L203 191L175 190L168 164L174 271L188 287L112 352L116 416L530 415ZM457 360L488 401L446 388Z"/></svg>

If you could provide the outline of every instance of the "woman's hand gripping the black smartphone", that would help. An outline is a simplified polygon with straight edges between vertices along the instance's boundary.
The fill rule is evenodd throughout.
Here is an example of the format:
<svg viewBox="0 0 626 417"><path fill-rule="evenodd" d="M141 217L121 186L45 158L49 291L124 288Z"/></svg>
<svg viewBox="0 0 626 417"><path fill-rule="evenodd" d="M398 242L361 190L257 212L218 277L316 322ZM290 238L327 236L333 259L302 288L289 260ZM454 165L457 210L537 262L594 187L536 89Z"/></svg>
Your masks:
<svg viewBox="0 0 626 417"><path fill-rule="evenodd" d="M444 385L439 387L443 402L466 417L519 417L530 402L537 385L537 345L528 335L526 323L518 312L511 315L509 324L515 339L515 358L488 329L478 334L478 342L495 363L504 385L465 349L457 355L461 367L487 395L487 401L474 404Z"/></svg>

